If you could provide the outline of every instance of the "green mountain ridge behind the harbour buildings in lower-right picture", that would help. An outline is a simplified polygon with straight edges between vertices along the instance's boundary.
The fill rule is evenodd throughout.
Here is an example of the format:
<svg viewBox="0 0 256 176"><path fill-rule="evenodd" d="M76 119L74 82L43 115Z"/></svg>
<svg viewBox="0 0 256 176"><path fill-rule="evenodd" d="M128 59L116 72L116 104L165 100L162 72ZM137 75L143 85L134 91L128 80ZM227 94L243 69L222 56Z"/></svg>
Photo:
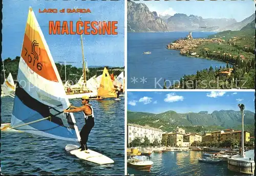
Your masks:
<svg viewBox="0 0 256 176"><path fill-rule="evenodd" d="M244 111L244 124L254 123L254 113ZM208 112L185 113L180 114L174 111L167 111L160 114L142 113L142 112L127 112L127 121L129 123L137 123L140 125L149 125L152 127L167 129L169 126L221 126L232 128L241 125L241 112L232 110L214 111L211 114Z"/></svg>

